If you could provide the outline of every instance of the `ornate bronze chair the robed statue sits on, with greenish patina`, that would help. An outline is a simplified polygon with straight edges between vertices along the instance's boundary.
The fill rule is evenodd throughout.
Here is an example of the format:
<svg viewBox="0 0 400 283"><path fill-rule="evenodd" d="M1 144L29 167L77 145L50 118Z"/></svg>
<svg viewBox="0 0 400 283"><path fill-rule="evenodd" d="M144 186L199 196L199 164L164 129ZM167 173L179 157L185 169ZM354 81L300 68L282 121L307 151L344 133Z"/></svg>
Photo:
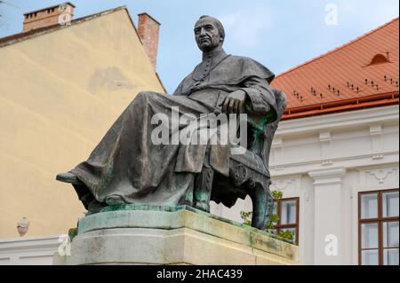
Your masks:
<svg viewBox="0 0 400 283"><path fill-rule="evenodd" d="M231 208L237 198L244 200L249 195L252 199L252 227L260 230L267 228L274 207L274 198L269 192L269 151L286 107L284 92L273 91L278 110L276 122L267 123L267 119L263 119L265 117L249 114L248 146L244 154L230 156L229 177L204 167L195 183L195 193L199 194L196 199L202 199L207 204L214 200Z"/></svg>

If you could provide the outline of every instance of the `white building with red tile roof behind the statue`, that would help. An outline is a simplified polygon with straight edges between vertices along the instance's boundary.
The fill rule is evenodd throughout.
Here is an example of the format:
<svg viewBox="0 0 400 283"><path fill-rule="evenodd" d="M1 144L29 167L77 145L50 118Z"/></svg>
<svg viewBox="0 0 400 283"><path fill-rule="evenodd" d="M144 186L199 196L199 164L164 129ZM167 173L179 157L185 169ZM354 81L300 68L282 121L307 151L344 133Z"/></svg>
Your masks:
<svg viewBox="0 0 400 283"><path fill-rule="evenodd" d="M281 229L304 264L398 264L398 19L277 76L271 149ZM240 221L250 199L213 212Z"/></svg>

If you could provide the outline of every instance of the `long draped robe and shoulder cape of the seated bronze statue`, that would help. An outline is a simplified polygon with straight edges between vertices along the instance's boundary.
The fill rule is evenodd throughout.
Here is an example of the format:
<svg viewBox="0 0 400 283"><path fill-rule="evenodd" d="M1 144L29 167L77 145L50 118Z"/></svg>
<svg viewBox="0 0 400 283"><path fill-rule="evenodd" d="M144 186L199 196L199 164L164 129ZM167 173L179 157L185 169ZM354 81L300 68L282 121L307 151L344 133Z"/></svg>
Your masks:
<svg viewBox="0 0 400 283"><path fill-rule="evenodd" d="M151 123L152 117L171 117L172 107L179 109L180 117L218 114L230 92L244 90L251 112L270 114L268 122L274 122L276 102L269 87L274 76L253 59L217 50L204 53L172 95L140 92L88 160L71 170L84 183L74 186L85 208L93 198L104 202L109 195L134 204L193 205L194 180L205 160L228 176L229 147L212 145L210 151L206 145L155 145L151 134L157 124Z"/></svg>

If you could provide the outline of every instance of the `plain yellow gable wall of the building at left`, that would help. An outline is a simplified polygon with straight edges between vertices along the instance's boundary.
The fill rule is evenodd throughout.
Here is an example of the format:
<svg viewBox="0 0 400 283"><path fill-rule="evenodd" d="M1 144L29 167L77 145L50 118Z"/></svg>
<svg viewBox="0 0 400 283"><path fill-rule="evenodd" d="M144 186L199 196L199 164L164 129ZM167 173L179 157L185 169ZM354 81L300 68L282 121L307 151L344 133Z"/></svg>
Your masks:
<svg viewBox="0 0 400 283"><path fill-rule="evenodd" d="M86 160L141 90L164 92L126 10L0 48L0 238L68 232L84 215L56 174Z"/></svg>

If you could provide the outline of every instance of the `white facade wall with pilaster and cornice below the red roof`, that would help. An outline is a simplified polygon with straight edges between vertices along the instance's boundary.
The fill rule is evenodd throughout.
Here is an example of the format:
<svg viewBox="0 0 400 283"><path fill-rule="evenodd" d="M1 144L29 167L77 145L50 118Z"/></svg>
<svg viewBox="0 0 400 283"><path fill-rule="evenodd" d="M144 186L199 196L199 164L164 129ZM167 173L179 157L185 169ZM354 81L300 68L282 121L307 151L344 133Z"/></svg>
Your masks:
<svg viewBox="0 0 400 283"><path fill-rule="evenodd" d="M271 190L300 198L300 262L358 264L357 193L398 188L398 106L280 123L271 149ZM250 199L212 212L240 221ZM324 249L327 235L338 255Z"/></svg>

